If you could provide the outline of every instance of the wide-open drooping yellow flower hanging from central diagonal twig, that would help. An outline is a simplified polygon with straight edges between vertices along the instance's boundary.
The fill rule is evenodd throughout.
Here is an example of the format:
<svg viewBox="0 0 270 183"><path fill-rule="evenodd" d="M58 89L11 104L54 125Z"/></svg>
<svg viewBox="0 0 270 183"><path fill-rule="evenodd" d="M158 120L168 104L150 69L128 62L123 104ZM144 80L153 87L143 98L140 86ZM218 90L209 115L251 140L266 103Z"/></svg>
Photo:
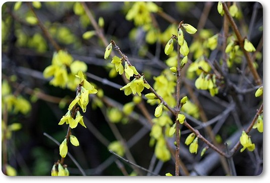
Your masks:
<svg viewBox="0 0 270 183"><path fill-rule="evenodd" d="M141 92L146 87L147 89L150 88L150 85L147 83L144 83L143 76L140 77L140 79L133 79L131 82L129 82L127 85L120 88L120 90L124 90L125 95L128 96L131 93L138 94L141 96Z"/></svg>

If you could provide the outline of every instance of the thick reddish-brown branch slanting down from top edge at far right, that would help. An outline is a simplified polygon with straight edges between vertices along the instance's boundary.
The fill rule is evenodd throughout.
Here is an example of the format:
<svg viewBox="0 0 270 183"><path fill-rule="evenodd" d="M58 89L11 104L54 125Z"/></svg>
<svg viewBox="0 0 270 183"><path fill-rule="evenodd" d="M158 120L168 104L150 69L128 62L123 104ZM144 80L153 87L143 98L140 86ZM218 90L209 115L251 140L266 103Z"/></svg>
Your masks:
<svg viewBox="0 0 270 183"><path fill-rule="evenodd" d="M262 84L261 78L260 78L259 74L257 73L255 67L253 66L253 61L251 59L250 54L244 49L244 39L242 38L242 36L238 30L238 27L236 26L232 16L230 15L230 12L228 10L226 3L222 2L222 6L223 6L224 13L225 13L226 17L228 18L228 21L230 22L231 27L232 27L232 29L233 29L233 31L238 39L239 45L240 45L240 47L241 47L241 49L246 57L247 65L248 65L248 67L249 67L249 69L250 69L250 71L255 79L255 82L257 85L260 85L260 84Z"/></svg>

